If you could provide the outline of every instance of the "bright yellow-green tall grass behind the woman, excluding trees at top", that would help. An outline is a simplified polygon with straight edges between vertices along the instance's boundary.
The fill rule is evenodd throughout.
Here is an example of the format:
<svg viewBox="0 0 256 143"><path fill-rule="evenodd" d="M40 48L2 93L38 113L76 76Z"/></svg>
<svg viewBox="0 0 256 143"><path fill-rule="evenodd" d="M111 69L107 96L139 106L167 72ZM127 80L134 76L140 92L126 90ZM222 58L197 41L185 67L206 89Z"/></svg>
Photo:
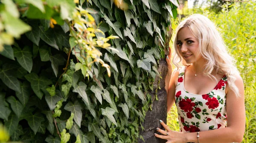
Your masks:
<svg viewBox="0 0 256 143"><path fill-rule="evenodd" d="M231 55L237 60L236 65L241 73L245 88L246 128L242 143L253 143L256 140L256 3L235 3L222 6L222 12L215 14L204 9L197 9L195 13L201 13L209 17L221 31ZM172 22L173 29L178 20ZM172 110L172 112L175 112ZM175 115L172 114L171 115ZM168 118L174 118L169 116ZM177 118L177 116L175 117ZM177 121L170 120L170 126L179 130Z"/></svg>

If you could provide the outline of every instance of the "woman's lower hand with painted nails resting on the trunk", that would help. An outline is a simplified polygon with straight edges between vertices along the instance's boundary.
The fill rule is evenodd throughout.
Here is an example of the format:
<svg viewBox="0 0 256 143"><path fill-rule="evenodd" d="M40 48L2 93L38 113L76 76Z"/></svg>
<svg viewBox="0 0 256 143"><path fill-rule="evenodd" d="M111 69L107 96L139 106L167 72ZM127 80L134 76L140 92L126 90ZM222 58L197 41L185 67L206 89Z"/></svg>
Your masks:
<svg viewBox="0 0 256 143"><path fill-rule="evenodd" d="M167 140L166 143L185 143L184 133L172 131L169 127L160 120L161 125L166 129L166 131L157 128L157 131L160 132L162 135L154 134L156 137Z"/></svg>

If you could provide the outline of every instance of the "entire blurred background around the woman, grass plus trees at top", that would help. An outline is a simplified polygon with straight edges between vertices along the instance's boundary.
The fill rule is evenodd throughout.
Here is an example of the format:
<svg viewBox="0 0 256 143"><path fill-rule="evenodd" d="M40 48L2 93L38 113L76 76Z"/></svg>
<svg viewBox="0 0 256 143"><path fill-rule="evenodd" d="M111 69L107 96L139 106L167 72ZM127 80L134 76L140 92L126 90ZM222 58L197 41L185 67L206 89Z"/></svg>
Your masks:
<svg viewBox="0 0 256 143"><path fill-rule="evenodd" d="M178 16L172 19L174 30L190 14L203 14L215 23L237 60L236 65L244 80L246 127L242 143L256 143L256 2L227 2L221 0L179 0ZM172 40L174 37L172 37ZM173 48L173 43L170 43ZM174 50L172 50L174 51ZM167 123L179 131L175 105L168 113Z"/></svg>

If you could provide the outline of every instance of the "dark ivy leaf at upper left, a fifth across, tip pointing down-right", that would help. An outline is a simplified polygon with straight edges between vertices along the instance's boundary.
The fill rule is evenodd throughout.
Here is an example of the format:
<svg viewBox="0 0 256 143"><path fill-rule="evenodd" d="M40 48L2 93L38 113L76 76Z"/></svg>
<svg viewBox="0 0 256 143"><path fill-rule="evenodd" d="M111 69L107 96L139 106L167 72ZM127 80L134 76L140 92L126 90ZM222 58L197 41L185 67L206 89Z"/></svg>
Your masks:
<svg viewBox="0 0 256 143"><path fill-rule="evenodd" d="M56 44L56 41L55 41L55 37L51 32L51 29L44 31L44 28L41 26L39 27L39 29L41 31L40 38L44 40L44 42L52 46L53 48L59 50L58 45Z"/></svg>

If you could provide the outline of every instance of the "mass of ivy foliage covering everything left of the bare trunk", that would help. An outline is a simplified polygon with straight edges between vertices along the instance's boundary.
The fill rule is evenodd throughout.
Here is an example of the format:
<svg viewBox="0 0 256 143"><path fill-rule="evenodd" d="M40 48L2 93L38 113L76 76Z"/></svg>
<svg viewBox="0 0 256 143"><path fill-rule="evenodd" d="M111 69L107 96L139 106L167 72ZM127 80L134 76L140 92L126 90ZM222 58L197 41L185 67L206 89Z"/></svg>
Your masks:
<svg viewBox="0 0 256 143"><path fill-rule="evenodd" d="M10 140L137 142L174 4L1 0L0 7L0 123Z"/></svg>

